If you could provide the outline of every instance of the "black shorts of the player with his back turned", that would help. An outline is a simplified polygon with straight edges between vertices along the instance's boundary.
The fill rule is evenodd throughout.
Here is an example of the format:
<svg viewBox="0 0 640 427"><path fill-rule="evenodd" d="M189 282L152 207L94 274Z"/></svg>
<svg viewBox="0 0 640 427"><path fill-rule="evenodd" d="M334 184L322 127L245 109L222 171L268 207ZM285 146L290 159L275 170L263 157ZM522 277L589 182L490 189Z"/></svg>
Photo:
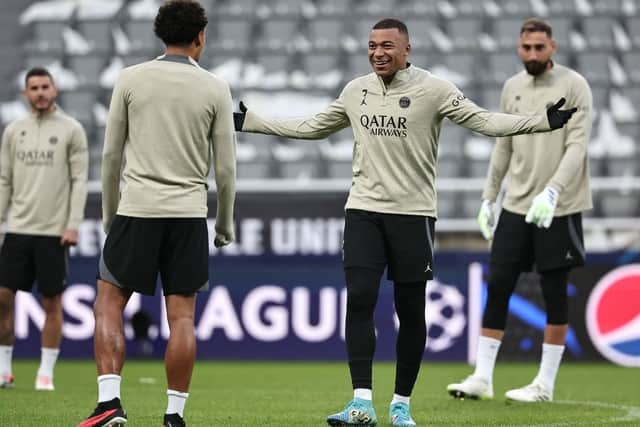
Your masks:
<svg viewBox="0 0 640 427"><path fill-rule="evenodd" d="M100 257L98 277L153 295L160 272L165 295L209 287L205 218L134 218L116 215Z"/></svg>

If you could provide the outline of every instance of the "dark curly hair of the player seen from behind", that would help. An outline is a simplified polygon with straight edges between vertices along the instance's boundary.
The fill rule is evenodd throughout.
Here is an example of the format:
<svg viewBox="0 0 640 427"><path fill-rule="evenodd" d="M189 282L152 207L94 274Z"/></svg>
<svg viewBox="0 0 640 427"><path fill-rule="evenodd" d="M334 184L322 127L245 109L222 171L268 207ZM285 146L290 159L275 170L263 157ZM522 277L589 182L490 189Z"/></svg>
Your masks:
<svg viewBox="0 0 640 427"><path fill-rule="evenodd" d="M208 22L197 1L170 0L158 9L153 31L167 46L189 46Z"/></svg>

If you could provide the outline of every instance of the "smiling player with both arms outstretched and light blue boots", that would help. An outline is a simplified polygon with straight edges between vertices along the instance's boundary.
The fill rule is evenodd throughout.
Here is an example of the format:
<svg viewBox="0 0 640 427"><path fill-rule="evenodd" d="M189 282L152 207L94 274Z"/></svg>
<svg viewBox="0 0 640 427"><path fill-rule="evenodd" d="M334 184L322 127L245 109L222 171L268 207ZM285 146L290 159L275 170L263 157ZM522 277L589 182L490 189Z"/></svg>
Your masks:
<svg viewBox="0 0 640 427"><path fill-rule="evenodd" d="M410 64L406 25L393 18L369 34L373 73L349 82L313 117L271 120L241 104L236 130L297 139L322 139L351 126L353 178L346 204L344 272L347 284L346 346L353 399L330 415L330 425L374 425L373 321L380 278L388 268L400 320L394 426L414 426L409 400L425 348L425 286L433 278L436 221L436 154L442 120L489 136L548 132L562 127L573 109L563 100L532 115L489 112L458 88Z"/></svg>

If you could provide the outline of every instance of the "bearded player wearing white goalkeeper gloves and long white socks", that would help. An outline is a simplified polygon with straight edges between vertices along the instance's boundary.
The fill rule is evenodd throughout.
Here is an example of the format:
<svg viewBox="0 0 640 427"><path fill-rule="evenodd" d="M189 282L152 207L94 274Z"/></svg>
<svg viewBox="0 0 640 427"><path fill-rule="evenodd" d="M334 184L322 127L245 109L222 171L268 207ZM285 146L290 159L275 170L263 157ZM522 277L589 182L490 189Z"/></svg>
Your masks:
<svg viewBox="0 0 640 427"><path fill-rule="evenodd" d="M553 400L569 327L569 271L584 263L581 212L592 207L587 156L591 89L580 74L553 62L555 51L546 22L536 18L524 22L518 54L525 71L505 82L502 110L535 113L562 96L578 111L563 129L498 138L493 148L478 214L483 236L493 239L487 305L475 371L447 387L454 397L493 398L493 369L509 298L520 273L530 271L535 263L547 312L540 369L530 384L507 391L506 397L522 402ZM493 204L505 176L506 195L494 235Z"/></svg>

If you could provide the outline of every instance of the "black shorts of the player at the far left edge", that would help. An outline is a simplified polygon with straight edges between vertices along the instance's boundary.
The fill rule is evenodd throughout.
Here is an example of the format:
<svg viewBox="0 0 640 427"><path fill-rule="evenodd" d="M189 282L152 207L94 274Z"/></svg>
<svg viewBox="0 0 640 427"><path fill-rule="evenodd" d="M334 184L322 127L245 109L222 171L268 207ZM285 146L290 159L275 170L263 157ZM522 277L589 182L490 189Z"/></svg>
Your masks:
<svg viewBox="0 0 640 427"><path fill-rule="evenodd" d="M64 291L67 279L67 248L60 236L8 233L0 251L0 286L53 297Z"/></svg>

